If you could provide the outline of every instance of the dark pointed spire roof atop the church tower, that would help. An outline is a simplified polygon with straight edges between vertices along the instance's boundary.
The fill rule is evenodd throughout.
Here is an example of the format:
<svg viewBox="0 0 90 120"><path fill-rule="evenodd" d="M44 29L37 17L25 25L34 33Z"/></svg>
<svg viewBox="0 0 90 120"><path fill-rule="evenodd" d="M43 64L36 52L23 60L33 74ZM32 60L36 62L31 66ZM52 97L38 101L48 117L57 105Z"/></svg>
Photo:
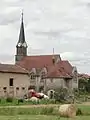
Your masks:
<svg viewBox="0 0 90 120"><path fill-rule="evenodd" d="M25 43L23 12L22 12L21 28L20 28L20 34L19 34L19 41L18 41L18 43Z"/></svg>

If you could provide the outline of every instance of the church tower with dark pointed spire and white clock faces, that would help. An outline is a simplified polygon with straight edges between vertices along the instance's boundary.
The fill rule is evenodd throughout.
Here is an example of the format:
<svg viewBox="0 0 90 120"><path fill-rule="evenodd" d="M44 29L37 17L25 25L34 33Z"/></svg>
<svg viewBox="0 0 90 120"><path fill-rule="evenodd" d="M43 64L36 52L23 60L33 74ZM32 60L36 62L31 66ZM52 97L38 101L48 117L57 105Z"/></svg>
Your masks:
<svg viewBox="0 0 90 120"><path fill-rule="evenodd" d="M23 12L22 12L19 40L18 40L18 43L16 45L15 62L20 61L25 56L27 56L27 43L25 41Z"/></svg>

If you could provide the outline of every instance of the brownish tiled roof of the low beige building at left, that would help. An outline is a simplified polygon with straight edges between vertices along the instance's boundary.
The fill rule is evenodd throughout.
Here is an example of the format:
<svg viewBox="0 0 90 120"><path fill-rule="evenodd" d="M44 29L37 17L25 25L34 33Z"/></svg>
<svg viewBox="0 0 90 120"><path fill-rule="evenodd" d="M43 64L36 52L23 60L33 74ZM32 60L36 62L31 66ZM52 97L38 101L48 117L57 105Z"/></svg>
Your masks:
<svg viewBox="0 0 90 120"><path fill-rule="evenodd" d="M28 71L18 65L12 64L0 64L0 72L3 73L17 73L17 74L27 74Z"/></svg>

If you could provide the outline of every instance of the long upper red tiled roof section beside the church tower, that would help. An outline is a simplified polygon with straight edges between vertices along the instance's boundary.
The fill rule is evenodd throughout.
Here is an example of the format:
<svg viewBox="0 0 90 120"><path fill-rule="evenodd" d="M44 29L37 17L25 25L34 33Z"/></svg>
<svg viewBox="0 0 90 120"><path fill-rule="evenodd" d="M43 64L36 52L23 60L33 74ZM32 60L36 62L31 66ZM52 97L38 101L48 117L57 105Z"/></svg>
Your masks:
<svg viewBox="0 0 90 120"><path fill-rule="evenodd" d="M60 55L54 55L57 62L58 59L61 60ZM20 66L27 70L31 68L43 68L47 66L52 66L53 55L40 55L40 56L26 56L21 61L17 62Z"/></svg>

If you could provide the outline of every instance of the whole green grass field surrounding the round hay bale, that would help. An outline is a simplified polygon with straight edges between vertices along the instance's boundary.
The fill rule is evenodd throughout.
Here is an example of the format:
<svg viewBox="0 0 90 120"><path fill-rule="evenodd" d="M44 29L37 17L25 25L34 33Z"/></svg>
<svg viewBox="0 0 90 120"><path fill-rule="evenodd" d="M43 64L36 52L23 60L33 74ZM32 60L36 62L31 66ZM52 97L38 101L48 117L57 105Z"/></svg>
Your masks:
<svg viewBox="0 0 90 120"><path fill-rule="evenodd" d="M63 118L58 114L59 105L0 106L0 120L90 120L90 105L77 104L82 115Z"/></svg>

